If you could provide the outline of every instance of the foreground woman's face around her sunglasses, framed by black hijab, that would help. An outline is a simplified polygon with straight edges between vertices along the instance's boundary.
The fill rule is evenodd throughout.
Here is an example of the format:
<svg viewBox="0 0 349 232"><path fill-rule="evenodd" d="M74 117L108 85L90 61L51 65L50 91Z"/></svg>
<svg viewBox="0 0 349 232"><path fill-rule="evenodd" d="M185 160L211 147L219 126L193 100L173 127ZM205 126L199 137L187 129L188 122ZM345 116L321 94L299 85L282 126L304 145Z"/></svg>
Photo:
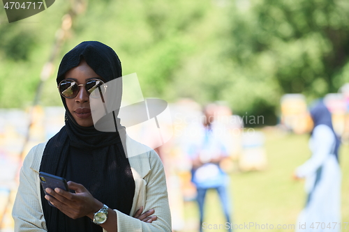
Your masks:
<svg viewBox="0 0 349 232"><path fill-rule="evenodd" d="M102 79L86 61L81 61L78 66L66 72L64 79L73 79L77 84L86 84L86 82L92 78ZM83 127L94 125L89 104L89 93L87 93L84 86L79 86L79 93L77 93L75 98L65 99L68 110L77 124Z"/></svg>

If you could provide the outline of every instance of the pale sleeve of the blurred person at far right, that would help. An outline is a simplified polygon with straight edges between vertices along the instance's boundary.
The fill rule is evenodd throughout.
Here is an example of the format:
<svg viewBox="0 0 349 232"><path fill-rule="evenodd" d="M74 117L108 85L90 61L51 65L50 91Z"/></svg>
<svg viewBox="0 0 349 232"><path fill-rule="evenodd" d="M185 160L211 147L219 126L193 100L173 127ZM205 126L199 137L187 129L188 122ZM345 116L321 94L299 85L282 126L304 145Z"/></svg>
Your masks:
<svg viewBox="0 0 349 232"><path fill-rule="evenodd" d="M327 125L318 125L313 131L313 155L296 170L296 175L300 178L309 176L318 170L332 153L336 144L336 139L332 130Z"/></svg>

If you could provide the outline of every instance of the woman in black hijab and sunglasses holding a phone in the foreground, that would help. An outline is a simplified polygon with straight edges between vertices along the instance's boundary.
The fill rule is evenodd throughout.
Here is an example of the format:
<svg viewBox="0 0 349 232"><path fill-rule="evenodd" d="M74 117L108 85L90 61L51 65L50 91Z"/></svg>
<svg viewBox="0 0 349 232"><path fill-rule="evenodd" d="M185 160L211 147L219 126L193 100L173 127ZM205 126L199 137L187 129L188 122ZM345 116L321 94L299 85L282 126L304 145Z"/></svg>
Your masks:
<svg viewBox="0 0 349 232"><path fill-rule="evenodd" d="M121 142L126 139L124 130L100 132L94 127L89 95L98 87L105 91L105 83L121 76L119 57L101 42L82 42L64 56L57 84L66 108L66 125L47 143L33 148L24 161L13 208L16 229L24 231L34 224L59 232L170 231L165 175L157 154L151 150L128 158ZM117 99L121 94L120 88ZM122 128L119 118L114 119ZM42 188L38 192L37 171L70 180L70 192L46 189L51 196ZM28 187L36 191L25 192ZM27 207L36 210L26 212L31 210L23 201L38 201L40 207L29 202ZM148 211L142 213L143 209ZM150 216L154 210L160 215Z"/></svg>

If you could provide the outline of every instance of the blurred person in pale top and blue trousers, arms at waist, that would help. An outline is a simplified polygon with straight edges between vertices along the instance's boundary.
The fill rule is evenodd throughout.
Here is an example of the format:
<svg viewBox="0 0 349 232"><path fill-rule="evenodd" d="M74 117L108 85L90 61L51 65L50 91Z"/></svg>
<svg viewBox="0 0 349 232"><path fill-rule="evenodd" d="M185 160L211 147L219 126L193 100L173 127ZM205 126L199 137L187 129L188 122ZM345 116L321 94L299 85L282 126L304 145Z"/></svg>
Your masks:
<svg viewBox="0 0 349 232"><path fill-rule="evenodd" d="M219 162L228 156L228 152L225 145L215 134L214 127L212 127L216 107L214 104L205 107L203 123L195 133L197 139L191 141L188 146L188 155L192 162L191 181L198 192L196 199L200 210L199 231L202 231L204 202L209 189L215 189L218 192L226 222L230 223L228 175L219 166ZM231 229L229 228L228 231L231 231Z"/></svg>

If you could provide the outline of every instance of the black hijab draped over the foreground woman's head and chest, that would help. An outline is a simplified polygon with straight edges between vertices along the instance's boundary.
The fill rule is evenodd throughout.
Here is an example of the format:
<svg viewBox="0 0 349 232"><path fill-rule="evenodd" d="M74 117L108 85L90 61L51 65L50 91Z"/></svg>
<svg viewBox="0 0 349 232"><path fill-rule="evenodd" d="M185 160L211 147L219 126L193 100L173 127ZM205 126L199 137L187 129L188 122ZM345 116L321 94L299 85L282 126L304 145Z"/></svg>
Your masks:
<svg viewBox="0 0 349 232"><path fill-rule="evenodd" d="M87 41L64 56L59 65L57 84L82 59L106 82L122 76L121 62L114 50L101 42ZM121 89L117 91L118 95L121 93ZM65 98L61 99L66 108L66 125L47 142L40 171L81 183L98 201L128 215L135 194L135 183L121 143L125 131L100 132L94 126L82 127L70 114ZM119 121L117 124L119 127ZM88 217L70 219L57 208L49 206L44 196L41 189L41 202L49 232L102 231L101 226L93 224Z"/></svg>

